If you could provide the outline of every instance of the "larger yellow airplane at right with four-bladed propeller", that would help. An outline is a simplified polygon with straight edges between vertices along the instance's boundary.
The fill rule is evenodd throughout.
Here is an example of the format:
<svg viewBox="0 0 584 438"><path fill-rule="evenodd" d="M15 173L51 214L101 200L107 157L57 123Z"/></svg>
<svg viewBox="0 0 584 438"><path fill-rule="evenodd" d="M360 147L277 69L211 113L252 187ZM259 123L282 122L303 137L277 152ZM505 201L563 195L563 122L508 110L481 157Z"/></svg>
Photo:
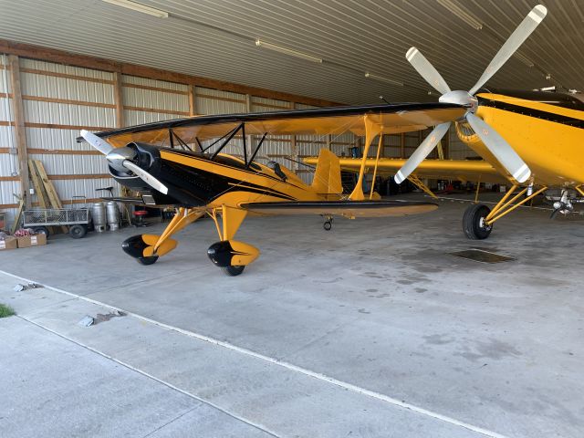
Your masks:
<svg viewBox="0 0 584 438"><path fill-rule="evenodd" d="M378 159L365 160L365 166L376 174L394 174L396 183L406 178L412 178L414 183L418 178L511 183L511 189L493 209L481 203L468 207L463 228L471 239L485 239L496 221L540 193L546 193L547 199L554 202L553 215L568 214L574 203L584 202L581 95L482 89L546 14L544 6L534 7L469 91L452 91L417 48L410 48L406 54L422 78L442 93L440 102L467 105L464 116L454 120L456 133L484 161L424 160L451 122L437 125L407 161L379 159L379 153ZM340 165L356 170L363 161L343 158Z"/></svg>

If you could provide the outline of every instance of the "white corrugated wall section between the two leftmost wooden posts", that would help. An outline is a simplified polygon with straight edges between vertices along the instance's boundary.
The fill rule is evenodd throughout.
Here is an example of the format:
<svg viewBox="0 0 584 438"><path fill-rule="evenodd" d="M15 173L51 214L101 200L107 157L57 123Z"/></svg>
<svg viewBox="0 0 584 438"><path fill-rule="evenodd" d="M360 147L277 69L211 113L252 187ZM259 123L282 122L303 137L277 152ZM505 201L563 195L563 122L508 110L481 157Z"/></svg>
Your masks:
<svg viewBox="0 0 584 438"><path fill-rule="evenodd" d="M104 71L20 59L28 157L43 162L64 204L116 185L103 157L75 141L81 129L115 127L113 79Z"/></svg>

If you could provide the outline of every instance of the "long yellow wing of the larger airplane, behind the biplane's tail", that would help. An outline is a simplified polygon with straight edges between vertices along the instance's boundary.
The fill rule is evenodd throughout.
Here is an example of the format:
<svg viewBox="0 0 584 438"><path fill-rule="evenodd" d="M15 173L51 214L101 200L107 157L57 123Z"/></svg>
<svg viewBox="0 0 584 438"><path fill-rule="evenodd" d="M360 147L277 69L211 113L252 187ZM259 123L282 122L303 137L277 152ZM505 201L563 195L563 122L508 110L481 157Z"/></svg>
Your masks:
<svg viewBox="0 0 584 438"><path fill-rule="evenodd" d="M304 159L307 164L315 164L316 157ZM340 168L343 171L359 172L362 159L340 158ZM366 172L373 172L376 160L368 158L365 162ZM405 159L380 158L377 164L377 174L380 176L393 176L406 162ZM498 172L489 162L484 160L424 160L416 168L414 175L419 178L434 180L458 180L463 183L509 183L509 180Z"/></svg>

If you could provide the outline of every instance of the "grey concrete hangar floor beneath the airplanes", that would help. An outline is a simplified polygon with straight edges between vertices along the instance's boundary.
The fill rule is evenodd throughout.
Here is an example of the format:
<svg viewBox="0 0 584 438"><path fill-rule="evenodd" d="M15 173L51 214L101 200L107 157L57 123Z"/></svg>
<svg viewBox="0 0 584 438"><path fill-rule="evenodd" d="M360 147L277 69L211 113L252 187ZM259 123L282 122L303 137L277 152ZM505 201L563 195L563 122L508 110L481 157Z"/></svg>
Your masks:
<svg viewBox="0 0 584 438"><path fill-rule="evenodd" d="M15 370L6 364L30 358L42 335L48 357L63 360L59 349L95 355L74 368L87 371L79 379L93 379L95 391L110 393L103 376L113 360L120 376L135 374L133 381L120 377L138 388L132 402L147 412L151 398L163 400L161 428L154 421L142 427L120 399L129 436L157 428L167 433L160 436L584 435L584 219L552 222L548 212L520 210L488 240L470 242L460 224L465 207L445 202L431 214L338 219L332 232L314 217L249 218L237 238L262 255L238 277L208 260L206 248L216 241L209 220L178 235L181 245L153 266L120 250L136 230L0 252L5 273L60 289L16 293L20 280L0 278L0 302L20 315L0 325L2 339L18 336L0 364ZM473 246L516 261L485 265L446 254ZM108 307L132 314L77 325ZM18 335L21 329L31 335ZM47 360L17 370L56 372ZM61 372L72 372L70 363ZM2 387L14 381L10 372L0 375ZM10 392L25 402L0 398L7 436L34 434L25 425L30 412L21 410L47 397L36 390L41 383ZM92 386L72 380L71 387ZM61 431L73 430L68 404L57 409L58 398L48 401L35 405L33 418L60 415ZM192 409L201 403L204 410ZM107 423L108 412L84 415ZM203 422L212 414L223 429ZM91 431L117 435L106 426Z"/></svg>

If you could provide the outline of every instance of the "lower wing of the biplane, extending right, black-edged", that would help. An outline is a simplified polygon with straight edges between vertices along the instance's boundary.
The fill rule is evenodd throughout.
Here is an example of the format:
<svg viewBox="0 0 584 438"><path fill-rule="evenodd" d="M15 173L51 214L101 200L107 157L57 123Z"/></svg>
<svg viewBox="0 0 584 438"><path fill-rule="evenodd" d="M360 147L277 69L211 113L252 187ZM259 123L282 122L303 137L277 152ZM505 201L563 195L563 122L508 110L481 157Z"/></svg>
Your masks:
<svg viewBox="0 0 584 438"><path fill-rule="evenodd" d="M404 216L431 212L435 203L411 201L296 201L243 203L241 208L259 214L320 214L345 217Z"/></svg>

